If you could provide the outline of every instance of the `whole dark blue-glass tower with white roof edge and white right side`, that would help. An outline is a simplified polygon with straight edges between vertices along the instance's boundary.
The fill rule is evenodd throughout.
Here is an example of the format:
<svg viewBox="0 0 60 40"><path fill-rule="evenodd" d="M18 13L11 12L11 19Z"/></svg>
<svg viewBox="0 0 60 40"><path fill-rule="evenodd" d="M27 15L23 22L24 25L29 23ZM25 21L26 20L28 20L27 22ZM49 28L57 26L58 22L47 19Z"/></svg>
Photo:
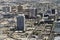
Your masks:
<svg viewBox="0 0 60 40"><path fill-rule="evenodd" d="M17 16L17 30L25 31L25 16L24 16L24 14L19 14Z"/></svg>

